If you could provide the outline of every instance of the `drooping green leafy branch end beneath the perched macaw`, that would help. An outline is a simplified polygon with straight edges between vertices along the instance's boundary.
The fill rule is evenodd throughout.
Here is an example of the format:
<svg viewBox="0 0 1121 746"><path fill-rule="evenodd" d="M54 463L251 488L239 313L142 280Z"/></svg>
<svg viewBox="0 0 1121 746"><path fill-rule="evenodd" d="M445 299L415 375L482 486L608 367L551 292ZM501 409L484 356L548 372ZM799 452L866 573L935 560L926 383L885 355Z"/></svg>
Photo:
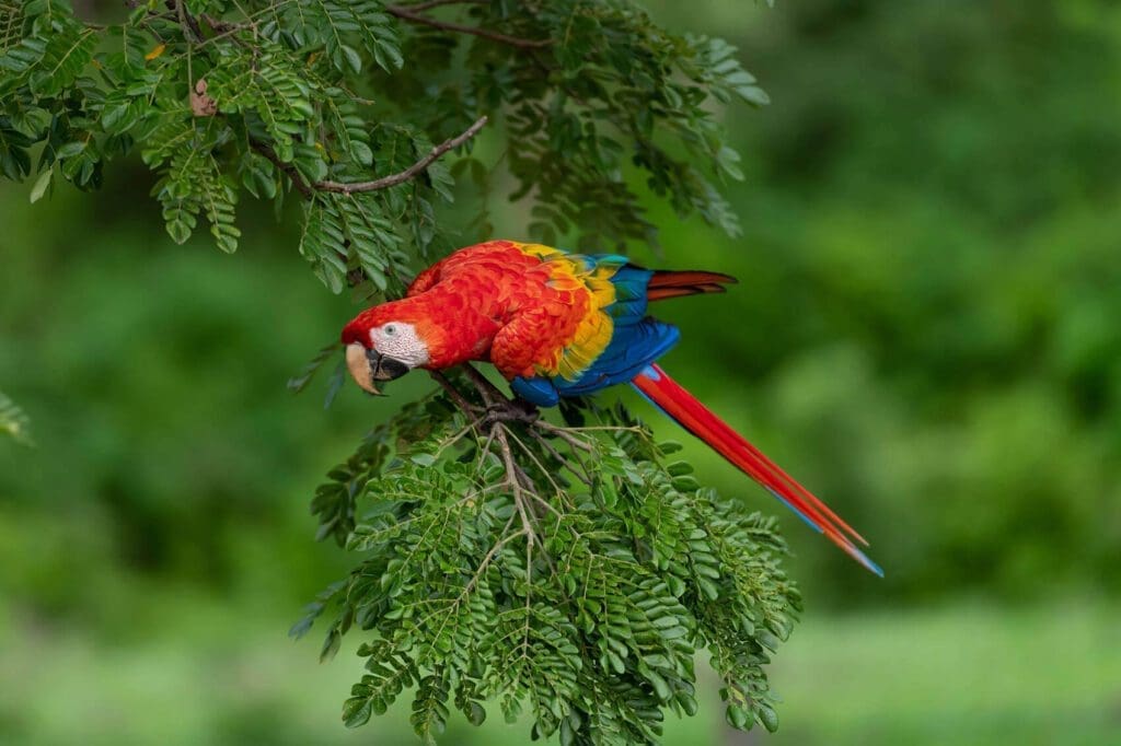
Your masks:
<svg viewBox="0 0 1121 746"><path fill-rule="evenodd" d="M562 429L474 403L405 408L316 493L319 537L361 561L294 634L331 606L324 656L368 631L346 725L416 687L428 742L451 707L478 725L498 699L510 721L528 703L534 738L649 743L663 709L696 712L706 647L729 722L772 730L762 666L799 608L773 520L701 488L621 408Z"/></svg>

